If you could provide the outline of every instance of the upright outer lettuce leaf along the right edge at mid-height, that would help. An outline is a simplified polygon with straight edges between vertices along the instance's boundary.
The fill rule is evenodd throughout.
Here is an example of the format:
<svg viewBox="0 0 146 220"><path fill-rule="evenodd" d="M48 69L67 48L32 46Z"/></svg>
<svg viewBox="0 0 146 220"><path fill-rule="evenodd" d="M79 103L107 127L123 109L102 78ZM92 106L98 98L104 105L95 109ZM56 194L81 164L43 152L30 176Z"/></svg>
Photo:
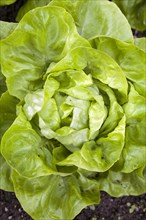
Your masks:
<svg viewBox="0 0 146 220"><path fill-rule="evenodd" d="M123 150L125 160L122 172L131 172L146 165L146 99L131 85L128 103L124 105L127 118L126 141Z"/></svg>

